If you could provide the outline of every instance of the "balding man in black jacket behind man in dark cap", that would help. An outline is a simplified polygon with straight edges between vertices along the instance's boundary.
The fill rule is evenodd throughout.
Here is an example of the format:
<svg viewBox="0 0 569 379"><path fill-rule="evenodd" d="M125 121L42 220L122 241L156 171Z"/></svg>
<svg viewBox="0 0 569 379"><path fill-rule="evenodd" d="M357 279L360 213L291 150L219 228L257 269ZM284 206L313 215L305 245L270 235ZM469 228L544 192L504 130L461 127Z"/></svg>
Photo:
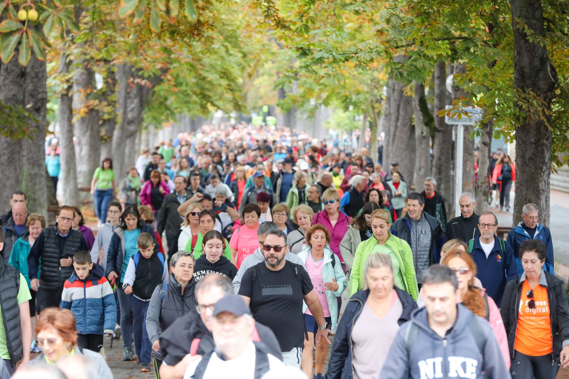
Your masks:
<svg viewBox="0 0 569 379"><path fill-rule="evenodd" d="M211 333L213 305L225 295L233 294L233 286L228 278L209 274L197 282L195 294L199 316L187 314L160 335L159 344L164 355L160 376L181 379L192 361L191 356L205 355L215 349ZM281 347L273 331L258 322L255 327L258 339L269 348L272 355L282 359Z"/></svg>

